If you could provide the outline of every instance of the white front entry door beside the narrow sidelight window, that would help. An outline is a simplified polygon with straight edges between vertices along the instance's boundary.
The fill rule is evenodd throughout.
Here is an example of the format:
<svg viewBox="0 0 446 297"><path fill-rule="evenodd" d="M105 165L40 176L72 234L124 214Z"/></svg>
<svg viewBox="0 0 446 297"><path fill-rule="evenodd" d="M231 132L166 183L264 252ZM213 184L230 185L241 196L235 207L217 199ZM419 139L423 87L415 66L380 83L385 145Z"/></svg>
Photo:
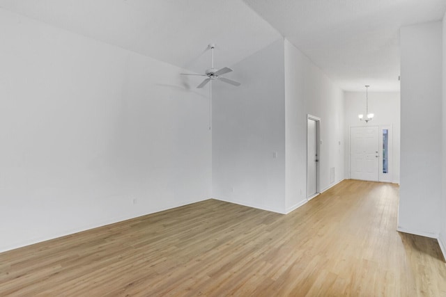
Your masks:
<svg viewBox="0 0 446 297"><path fill-rule="evenodd" d="M378 182L378 127L351 127L350 139L351 178Z"/></svg>

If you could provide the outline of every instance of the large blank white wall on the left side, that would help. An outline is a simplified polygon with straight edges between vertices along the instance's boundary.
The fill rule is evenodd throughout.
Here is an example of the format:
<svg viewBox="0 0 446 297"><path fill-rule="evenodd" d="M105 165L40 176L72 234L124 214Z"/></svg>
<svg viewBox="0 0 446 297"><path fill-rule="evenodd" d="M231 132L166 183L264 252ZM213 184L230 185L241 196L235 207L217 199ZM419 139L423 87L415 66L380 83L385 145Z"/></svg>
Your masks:
<svg viewBox="0 0 446 297"><path fill-rule="evenodd" d="M0 35L0 251L210 196L180 69L1 9Z"/></svg>

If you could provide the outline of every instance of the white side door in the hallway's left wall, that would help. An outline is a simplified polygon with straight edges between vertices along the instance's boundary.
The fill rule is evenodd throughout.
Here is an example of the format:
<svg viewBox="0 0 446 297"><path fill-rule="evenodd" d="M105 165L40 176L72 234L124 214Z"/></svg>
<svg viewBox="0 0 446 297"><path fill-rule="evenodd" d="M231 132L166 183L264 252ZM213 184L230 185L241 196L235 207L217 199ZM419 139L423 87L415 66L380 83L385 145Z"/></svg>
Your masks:
<svg viewBox="0 0 446 297"><path fill-rule="evenodd" d="M307 198L317 194L318 188L318 129L317 121L308 119L307 126Z"/></svg>

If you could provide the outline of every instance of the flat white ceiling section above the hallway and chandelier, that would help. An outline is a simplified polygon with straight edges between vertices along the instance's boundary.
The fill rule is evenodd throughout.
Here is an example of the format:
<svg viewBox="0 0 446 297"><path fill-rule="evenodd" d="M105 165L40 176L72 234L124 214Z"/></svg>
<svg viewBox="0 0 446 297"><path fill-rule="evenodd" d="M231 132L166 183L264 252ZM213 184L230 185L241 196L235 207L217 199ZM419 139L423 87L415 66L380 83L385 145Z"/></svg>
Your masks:
<svg viewBox="0 0 446 297"><path fill-rule="evenodd" d="M446 0L244 0L343 90L399 90L399 28L443 18Z"/></svg>

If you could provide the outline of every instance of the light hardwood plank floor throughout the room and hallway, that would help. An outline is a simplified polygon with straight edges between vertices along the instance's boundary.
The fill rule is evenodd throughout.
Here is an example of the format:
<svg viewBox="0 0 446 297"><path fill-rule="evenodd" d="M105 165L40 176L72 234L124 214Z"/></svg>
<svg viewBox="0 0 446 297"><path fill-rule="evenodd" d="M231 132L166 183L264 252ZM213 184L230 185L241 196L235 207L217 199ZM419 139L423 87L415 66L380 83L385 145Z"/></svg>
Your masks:
<svg viewBox="0 0 446 297"><path fill-rule="evenodd" d="M281 215L206 200L0 254L0 296L446 296L399 188L346 180Z"/></svg>

